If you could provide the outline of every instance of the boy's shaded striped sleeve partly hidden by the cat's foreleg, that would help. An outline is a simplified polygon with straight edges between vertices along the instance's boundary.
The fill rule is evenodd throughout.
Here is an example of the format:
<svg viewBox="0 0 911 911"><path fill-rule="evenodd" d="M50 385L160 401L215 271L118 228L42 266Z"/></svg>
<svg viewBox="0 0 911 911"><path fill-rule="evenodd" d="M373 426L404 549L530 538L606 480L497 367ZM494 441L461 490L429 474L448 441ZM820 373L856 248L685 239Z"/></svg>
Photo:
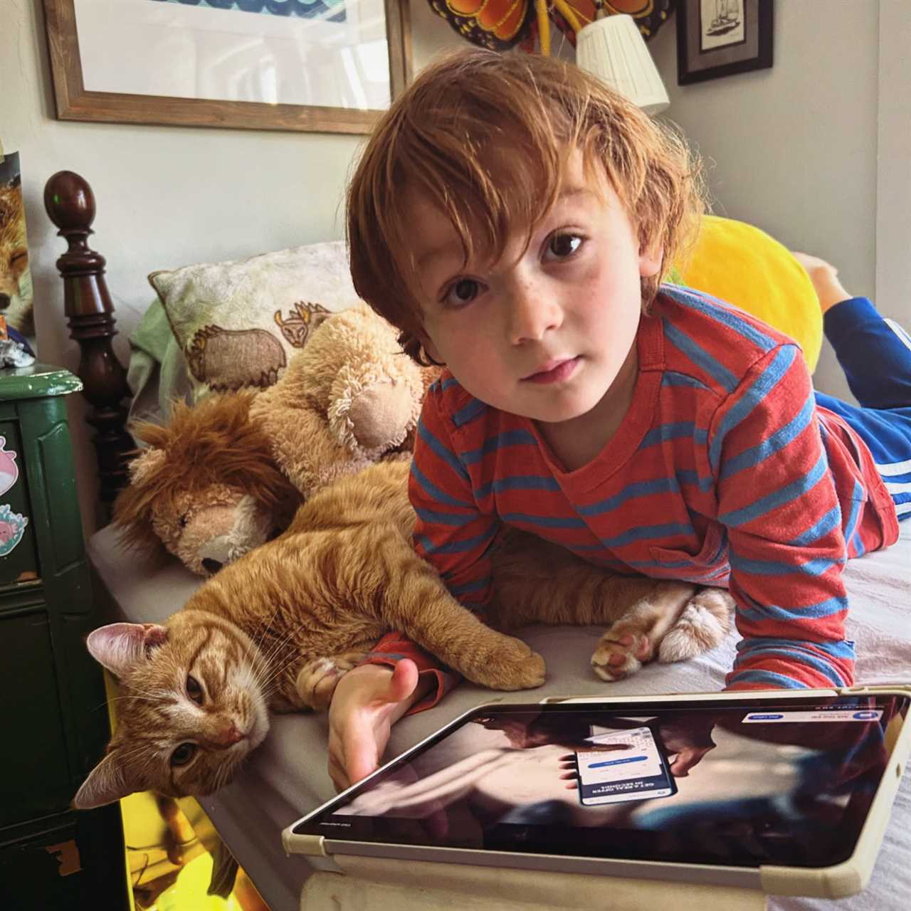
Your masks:
<svg viewBox="0 0 911 911"><path fill-rule="evenodd" d="M477 511L470 477L442 411L440 384L431 386L425 398L408 496L416 514L415 551L439 572L456 600L483 613L490 595L487 553L497 523ZM459 681L454 671L400 632L385 635L362 663L394 667L403 658L415 661L422 682L431 681L409 714L429 709Z"/></svg>

